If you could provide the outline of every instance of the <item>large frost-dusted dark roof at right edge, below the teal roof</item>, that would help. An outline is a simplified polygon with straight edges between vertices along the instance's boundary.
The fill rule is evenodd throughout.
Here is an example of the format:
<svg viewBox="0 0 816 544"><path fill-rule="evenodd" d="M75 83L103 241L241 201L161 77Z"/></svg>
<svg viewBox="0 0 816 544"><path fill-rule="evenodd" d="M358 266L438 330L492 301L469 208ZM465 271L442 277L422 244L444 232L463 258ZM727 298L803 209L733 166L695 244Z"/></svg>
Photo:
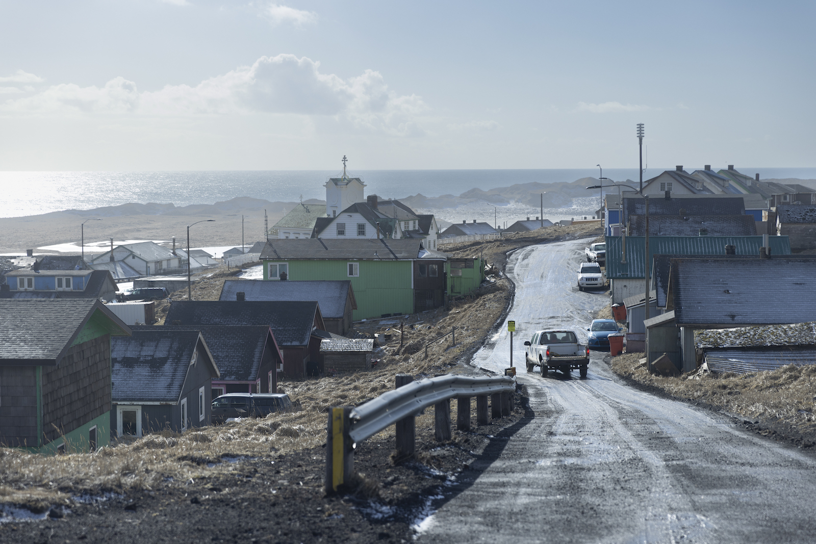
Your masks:
<svg viewBox="0 0 816 544"><path fill-rule="evenodd" d="M814 280L812 259L673 259L667 296L678 325L803 323L816 321Z"/></svg>

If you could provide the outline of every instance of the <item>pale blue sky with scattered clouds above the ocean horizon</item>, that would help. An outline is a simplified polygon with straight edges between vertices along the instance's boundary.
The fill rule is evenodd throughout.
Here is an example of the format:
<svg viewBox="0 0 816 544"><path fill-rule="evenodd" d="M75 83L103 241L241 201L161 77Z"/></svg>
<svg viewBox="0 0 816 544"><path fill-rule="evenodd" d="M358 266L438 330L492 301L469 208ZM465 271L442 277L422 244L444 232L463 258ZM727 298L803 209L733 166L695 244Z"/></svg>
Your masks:
<svg viewBox="0 0 816 544"><path fill-rule="evenodd" d="M0 0L0 170L812 167L814 15Z"/></svg>

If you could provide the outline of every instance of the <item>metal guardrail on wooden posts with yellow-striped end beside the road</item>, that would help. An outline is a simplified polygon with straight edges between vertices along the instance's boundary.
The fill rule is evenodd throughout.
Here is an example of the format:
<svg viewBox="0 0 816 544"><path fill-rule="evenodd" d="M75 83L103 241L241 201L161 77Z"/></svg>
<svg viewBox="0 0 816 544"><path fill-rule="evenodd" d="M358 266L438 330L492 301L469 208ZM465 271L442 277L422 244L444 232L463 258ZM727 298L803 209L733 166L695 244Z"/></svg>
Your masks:
<svg viewBox="0 0 816 544"><path fill-rule="evenodd" d="M434 407L435 437L450 440L450 399L457 399L456 427L470 431L470 399L476 397L477 425L486 425L490 417L501 418L513 409L512 392L516 380L446 374L437 378L413 381L410 374L397 374L396 388L363 405L332 406L326 428L326 493L351 482L354 475L354 450L357 443L379 431L396 425L397 459L414 457L416 447L415 417ZM490 413L488 397L490 396Z"/></svg>

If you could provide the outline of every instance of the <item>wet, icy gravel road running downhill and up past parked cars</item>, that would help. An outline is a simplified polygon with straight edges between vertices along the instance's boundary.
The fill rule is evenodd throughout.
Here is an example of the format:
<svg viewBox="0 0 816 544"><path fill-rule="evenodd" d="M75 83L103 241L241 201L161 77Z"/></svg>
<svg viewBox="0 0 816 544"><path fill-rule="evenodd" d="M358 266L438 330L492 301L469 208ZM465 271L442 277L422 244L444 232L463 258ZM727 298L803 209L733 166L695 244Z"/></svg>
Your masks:
<svg viewBox="0 0 816 544"><path fill-rule="evenodd" d="M530 246L508 260L513 363L530 420L437 503L418 542L813 542L813 454L632 389L602 352L592 352L586 379L525 372L532 331L573 328L585 339L608 303L575 285L584 242ZM476 365L509 366L503 329Z"/></svg>

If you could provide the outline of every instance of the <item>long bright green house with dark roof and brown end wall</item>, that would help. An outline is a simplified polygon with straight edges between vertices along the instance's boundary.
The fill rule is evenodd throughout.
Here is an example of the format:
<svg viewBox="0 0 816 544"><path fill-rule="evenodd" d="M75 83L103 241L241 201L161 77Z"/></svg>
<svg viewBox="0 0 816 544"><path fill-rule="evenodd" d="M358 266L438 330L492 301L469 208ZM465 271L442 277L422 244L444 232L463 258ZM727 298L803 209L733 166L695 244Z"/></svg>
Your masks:
<svg viewBox="0 0 816 544"><path fill-rule="evenodd" d="M419 240L269 240L264 280L348 280L354 321L422 312L445 304L447 255Z"/></svg>

